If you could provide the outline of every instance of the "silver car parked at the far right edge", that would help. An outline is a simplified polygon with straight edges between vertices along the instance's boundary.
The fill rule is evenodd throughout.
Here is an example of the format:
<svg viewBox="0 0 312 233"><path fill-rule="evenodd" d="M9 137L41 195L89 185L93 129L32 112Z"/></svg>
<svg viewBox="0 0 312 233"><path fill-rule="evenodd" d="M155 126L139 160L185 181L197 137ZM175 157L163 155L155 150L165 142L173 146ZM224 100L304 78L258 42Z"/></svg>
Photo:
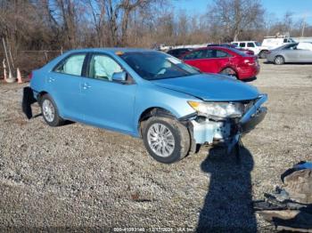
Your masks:
<svg viewBox="0 0 312 233"><path fill-rule="evenodd" d="M282 65L285 62L312 63L312 50L308 47L300 47L299 43L284 44L267 52L267 61L274 62L276 65Z"/></svg>

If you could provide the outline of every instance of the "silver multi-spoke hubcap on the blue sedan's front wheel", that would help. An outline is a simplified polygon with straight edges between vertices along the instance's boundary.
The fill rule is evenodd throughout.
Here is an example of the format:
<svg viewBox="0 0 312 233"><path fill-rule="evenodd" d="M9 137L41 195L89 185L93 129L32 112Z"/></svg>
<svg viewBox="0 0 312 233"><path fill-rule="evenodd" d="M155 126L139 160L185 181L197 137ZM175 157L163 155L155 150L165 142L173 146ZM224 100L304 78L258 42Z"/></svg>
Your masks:
<svg viewBox="0 0 312 233"><path fill-rule="evenodd" d="M168 157L175 149L175 138L166 125L153 124L147 132L147 141L159 157Z"/></svg>

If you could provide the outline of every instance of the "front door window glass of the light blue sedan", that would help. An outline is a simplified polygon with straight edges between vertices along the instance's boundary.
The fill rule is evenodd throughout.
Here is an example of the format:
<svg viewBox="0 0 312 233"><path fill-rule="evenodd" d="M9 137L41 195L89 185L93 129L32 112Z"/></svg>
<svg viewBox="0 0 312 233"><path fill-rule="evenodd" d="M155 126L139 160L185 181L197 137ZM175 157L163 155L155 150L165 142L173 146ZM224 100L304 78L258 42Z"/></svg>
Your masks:
<svg viewBox="0 0 312 233"><path fill-rule="evenodd" d="M119 64L105 55L94 55L90 61L89 77L112 80L112 75L123 71Z"/></svg>

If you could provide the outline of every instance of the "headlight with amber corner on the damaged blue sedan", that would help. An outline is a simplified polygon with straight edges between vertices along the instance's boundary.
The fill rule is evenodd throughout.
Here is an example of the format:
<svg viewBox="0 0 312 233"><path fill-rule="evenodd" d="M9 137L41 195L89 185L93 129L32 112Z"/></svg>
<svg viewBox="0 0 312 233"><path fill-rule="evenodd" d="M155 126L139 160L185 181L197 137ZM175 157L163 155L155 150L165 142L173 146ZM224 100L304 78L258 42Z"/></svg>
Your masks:
<svg viewBox="0 0 312 233"><path fill-rule="evenodd" d="M198 113L212 117L241 117L244 112L242 103L231 102L196 102L187 101Z"/></svg>

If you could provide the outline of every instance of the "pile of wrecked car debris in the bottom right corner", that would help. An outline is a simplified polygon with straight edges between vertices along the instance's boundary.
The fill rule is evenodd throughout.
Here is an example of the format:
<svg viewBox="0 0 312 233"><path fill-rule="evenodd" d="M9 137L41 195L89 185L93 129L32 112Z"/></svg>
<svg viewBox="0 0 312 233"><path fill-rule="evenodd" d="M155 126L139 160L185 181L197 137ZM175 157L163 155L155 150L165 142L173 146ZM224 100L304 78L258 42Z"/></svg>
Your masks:
<svg viewBox="0 0 312 233"><path fill-rule="evenodd" d="M254 210L277 230L312 232L312 163L300 162L282 174L283 189L265 193Z"/></svg>

